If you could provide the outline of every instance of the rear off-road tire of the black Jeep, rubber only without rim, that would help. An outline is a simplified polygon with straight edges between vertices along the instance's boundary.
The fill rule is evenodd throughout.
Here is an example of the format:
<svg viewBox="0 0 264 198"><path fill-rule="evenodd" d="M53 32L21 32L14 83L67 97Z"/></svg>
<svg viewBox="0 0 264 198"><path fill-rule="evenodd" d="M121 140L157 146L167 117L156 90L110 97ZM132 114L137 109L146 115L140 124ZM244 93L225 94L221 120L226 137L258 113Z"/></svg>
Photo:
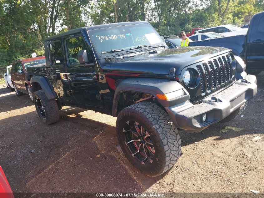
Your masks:
<svg viewBox="0 0 264 198"><path fill-rule="evenodd" d="M45 110L45 118L43 118L43 116L40 114L40 111L37 107L37 99L40 99L42 106ZM34 92L34 104L37 110L37 114L44 124L49 125L54 122L57 122L60 119L59 108L56 100L49 100L43 90L38 90Z"/></svg>

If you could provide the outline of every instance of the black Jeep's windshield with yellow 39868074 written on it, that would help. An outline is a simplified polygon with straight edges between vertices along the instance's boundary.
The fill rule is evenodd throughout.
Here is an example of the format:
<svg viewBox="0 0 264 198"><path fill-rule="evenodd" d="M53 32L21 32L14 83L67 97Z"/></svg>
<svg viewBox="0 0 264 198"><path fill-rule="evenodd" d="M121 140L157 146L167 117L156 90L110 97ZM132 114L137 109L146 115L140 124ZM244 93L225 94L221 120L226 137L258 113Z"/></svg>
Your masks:
<svg viewBox="0 0 264 198"><path fill-rule="evenodd" d="M109 56L111 53L103 53L112 49L130 49L139 45L162 45L161 36L149 24L133 24L90 30L90 39L95 50L100 56ZM114 52L115 54L124 53Z"/></svg>

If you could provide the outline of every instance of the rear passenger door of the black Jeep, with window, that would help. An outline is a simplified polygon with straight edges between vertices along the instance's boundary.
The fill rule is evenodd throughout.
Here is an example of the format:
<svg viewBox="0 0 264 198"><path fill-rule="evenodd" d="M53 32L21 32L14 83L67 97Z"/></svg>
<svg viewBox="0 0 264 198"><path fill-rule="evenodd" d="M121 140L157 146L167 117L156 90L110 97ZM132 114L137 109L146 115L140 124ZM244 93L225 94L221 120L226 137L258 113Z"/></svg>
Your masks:
<svg viewBox="0 0 264 198"><path fill-rule="evenodd" d="M67 80L62 41L55 40L49 42L48 53L50 67L47 67L47 78L62 102L72 101L72 95Z"/></svg>

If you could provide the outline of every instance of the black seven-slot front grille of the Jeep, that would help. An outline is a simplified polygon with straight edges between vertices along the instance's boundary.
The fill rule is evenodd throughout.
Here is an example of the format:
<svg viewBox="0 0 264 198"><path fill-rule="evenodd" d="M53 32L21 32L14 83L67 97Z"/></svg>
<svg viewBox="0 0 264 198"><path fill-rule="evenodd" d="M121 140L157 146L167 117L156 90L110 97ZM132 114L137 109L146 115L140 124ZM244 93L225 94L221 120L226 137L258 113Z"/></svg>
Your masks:
<svg viewBox="0 0 264 198"><path fill-rule="evenodd" d="M196 66L200 75L201 93L205 95L232 82L232 66L228 54Z"/></svg>

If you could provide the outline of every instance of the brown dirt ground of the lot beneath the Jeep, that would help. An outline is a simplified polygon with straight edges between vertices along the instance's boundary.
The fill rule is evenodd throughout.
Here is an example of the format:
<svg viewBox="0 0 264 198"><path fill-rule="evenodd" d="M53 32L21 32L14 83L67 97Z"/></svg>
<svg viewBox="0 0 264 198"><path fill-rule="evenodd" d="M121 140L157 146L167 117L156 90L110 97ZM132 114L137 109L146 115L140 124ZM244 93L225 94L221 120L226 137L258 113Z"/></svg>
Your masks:
<svg viewBox="0 0 264 198"><path fill-rule="evenodd" d="M182 133L182 156L156 178L117 151L116 118L64 107L46 126L28 95L1 85L0 164L13 192L264 192L264 72L257 84L242 116Z"/></svg>

